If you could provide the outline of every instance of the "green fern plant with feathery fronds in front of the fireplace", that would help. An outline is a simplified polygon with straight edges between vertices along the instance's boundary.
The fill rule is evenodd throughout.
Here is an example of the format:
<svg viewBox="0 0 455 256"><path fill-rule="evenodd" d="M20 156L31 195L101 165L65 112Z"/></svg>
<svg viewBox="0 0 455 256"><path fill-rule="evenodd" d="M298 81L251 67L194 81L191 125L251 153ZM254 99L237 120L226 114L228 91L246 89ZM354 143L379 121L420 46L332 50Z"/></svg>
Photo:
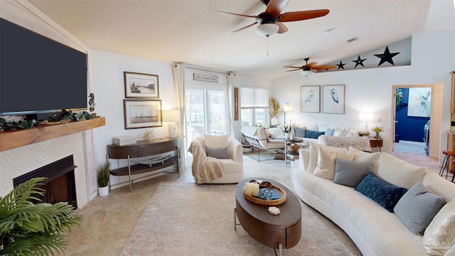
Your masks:
<svg viewBox="0 0 455 256"><path fill-rule="evenodd" d="M80 224L82 216L74 214L66 202L32 203L45 178L31 178L0 196L0 255L54 255L65 252L63 232Z"/></svg>

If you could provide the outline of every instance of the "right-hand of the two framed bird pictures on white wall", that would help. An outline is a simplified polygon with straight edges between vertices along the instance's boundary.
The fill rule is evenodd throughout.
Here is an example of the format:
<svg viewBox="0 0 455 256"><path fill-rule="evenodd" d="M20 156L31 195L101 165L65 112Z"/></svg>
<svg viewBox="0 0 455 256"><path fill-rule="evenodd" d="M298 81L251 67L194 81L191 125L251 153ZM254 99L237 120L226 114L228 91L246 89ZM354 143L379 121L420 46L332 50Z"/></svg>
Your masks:
<svg viewBox="0 0 455 256"><path fill-rule="evenodd" d="M322 112L344 114L344 85L323 85Z"/></svg>

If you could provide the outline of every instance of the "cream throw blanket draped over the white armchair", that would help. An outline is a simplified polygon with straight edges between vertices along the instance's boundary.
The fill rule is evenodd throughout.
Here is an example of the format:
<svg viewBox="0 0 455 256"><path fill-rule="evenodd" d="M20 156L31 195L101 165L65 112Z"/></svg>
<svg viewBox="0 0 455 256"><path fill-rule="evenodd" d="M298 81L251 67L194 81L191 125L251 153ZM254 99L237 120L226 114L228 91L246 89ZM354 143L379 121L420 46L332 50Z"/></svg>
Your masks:
<svg viewBox="0 0 455 256"><path fill-rule="evenodd" d="M207 183L224 175L223 164L219 159L207 156L202 137L193 139L188 152L193 154L191 171L196 183Z"/></svg>

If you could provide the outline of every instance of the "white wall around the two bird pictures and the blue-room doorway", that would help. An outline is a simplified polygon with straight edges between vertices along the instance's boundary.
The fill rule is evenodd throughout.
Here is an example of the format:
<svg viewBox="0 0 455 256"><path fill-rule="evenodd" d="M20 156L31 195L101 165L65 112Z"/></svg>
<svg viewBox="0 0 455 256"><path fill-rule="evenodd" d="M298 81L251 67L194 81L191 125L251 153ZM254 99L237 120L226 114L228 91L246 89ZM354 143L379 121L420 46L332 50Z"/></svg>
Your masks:
<svg viewBox="0 0 455 256"><path fill-rule="evenodd" d="M358 113L375 112L376 118L382 122L373 122L369 127L385 125L385 132L381 134L383 151L390 152L392 85L441 84L444 88L439 140L441 149L446 149L446 131L450 127L450 72L455 70L454 57L454 31L422 31L412 36L411 66L315 73L306 78L296 72L273 80L271 91L281 104L290 102L294 105L294 112L288 112L287 119L292 118L296 123L343 124L363 130L365 123L359 121ZM304 85L345 85L345 114L300 112L300 87Z"/></svg>

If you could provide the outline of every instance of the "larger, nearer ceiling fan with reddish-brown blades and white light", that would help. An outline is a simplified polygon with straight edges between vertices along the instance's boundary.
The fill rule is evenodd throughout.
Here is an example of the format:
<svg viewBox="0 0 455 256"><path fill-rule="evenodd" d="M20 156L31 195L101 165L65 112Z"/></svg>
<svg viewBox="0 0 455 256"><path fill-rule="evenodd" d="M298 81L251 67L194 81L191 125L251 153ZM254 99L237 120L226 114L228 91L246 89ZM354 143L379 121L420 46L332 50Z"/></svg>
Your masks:
<svg viewBox="0 0 455 256"><path fill-rule="evenodd" d="M245 26L243 28L239 28L232 32L242 31L245 28L250 28L251 26L255 26L255 24L259 23L256 26L256 32L261 36L270 36L274 33L285 33L288 31L287 27L284 26L283 22L289 21L303 21L310 18L319 18L322 16L326 16L328 14L327 9L321 10L312 10L312 11L292 11L282 14L281 12L284 10L284 7L287 6L287 2L289 0L261 0L262 3L267 5L265 11L257 16L254 15L246 15L246 14L232 14L230 12L225 11L217 11L218 14L232 14L237 16L243 16L248 18L256 18L255 23L251 25Z"/></svg>

